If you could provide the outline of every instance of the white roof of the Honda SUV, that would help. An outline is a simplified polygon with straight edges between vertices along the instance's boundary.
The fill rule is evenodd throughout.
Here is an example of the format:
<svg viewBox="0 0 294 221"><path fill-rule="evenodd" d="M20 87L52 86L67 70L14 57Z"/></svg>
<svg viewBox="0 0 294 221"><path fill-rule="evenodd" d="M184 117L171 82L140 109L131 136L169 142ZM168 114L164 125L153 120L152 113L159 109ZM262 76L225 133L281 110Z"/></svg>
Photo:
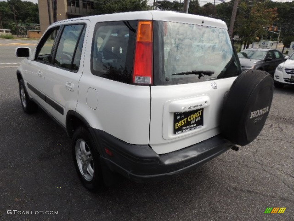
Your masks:
<svg viewBox="0 0 294 221"><path fill-rule="evenodd" d="M125 20L154 20L154 21L168 21L168 22L180 22L187 24L198 24L201 26L217 27L228 29L225 22L219 19L214 19L210 17L204 17L194 14L179 13L174 11L132 11L132 12L122 12L114 14L102 14L102 15L93 15L87 17L79 17L74 19L67 19L55 22L52 24L60 24L70 21L79 21L83 19L88 19L93 22L102 22L102 21L125 21Z"/></svg>

